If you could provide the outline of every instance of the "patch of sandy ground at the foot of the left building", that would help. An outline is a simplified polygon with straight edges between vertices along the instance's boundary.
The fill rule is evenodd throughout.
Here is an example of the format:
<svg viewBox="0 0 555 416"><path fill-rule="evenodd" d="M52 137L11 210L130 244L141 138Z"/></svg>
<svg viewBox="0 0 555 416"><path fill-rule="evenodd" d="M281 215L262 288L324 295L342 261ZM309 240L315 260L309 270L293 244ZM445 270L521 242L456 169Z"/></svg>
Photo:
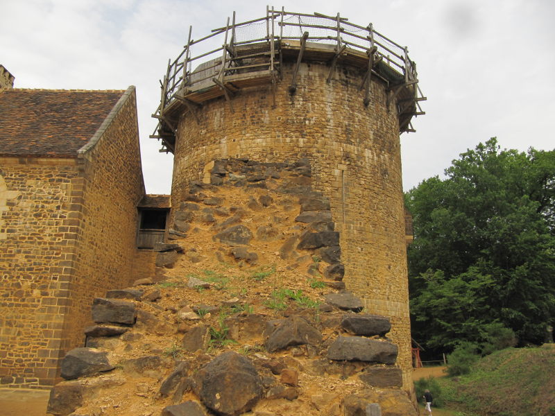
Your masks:
<svg viewBox="0 0 555 416"><path fill-rule="evenodd" d="M1 416L44 416L49 390L0 389Z"/></svg>

